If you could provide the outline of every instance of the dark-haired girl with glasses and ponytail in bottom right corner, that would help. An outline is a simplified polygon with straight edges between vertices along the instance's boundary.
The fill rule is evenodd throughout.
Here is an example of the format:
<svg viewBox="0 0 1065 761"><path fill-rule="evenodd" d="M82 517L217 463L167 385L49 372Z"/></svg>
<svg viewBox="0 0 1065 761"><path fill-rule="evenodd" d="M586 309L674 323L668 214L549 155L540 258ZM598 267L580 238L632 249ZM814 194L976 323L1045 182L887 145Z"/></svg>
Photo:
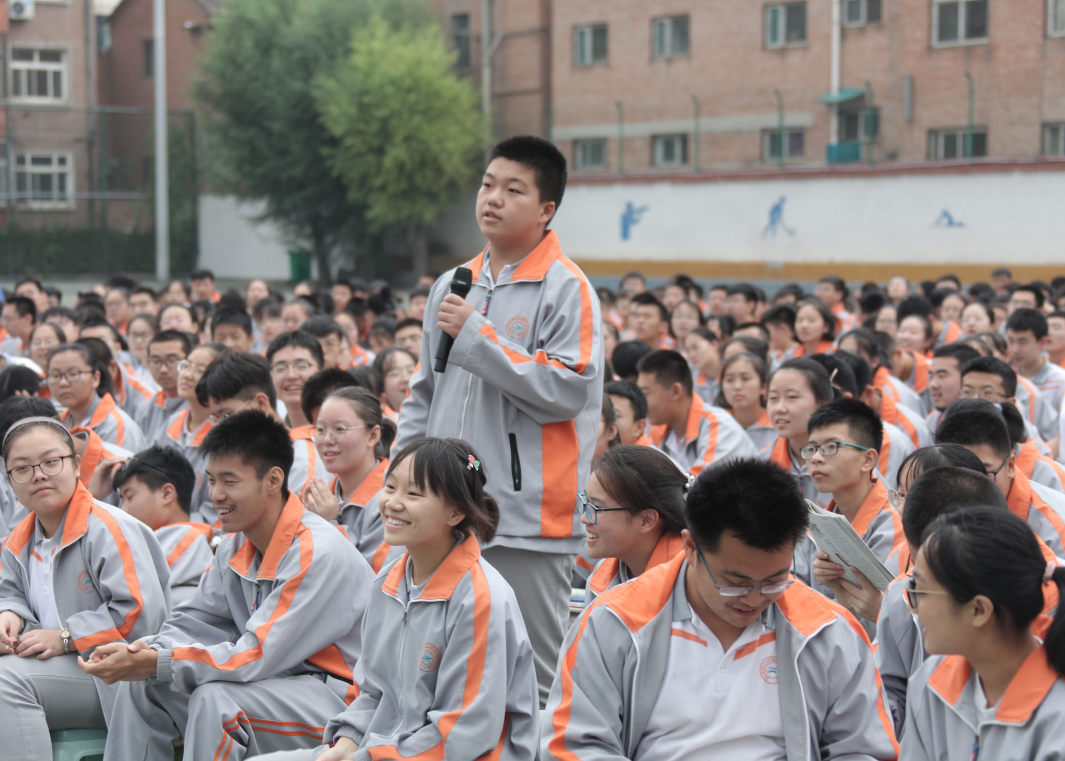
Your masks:
<svg viewBox="0 0 1065 761"><path fill-rule="evenodd" d="M1065 748L1065 586L1031 528L971 507L928 528L906 589L930 658L911 679L899 758L1052 759Z"/></svg>

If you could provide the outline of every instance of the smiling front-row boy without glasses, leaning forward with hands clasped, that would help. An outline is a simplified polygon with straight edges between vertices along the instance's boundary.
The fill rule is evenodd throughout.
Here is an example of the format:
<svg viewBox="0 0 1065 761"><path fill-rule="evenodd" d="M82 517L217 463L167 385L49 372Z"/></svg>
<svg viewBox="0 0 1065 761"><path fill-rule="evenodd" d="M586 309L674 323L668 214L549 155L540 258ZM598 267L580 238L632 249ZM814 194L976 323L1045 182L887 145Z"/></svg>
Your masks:
<svg viewBox="0 0 1065 761"><path fill-rule="evenodd" d="M314 747L358 693L353 669L373 572L285 488L289 432L267 412L244 410L202 448L229 536L159 634L99 647L84 663L104 682L128 682L106 761L169 758L182 735L194 759Z"/></svg>

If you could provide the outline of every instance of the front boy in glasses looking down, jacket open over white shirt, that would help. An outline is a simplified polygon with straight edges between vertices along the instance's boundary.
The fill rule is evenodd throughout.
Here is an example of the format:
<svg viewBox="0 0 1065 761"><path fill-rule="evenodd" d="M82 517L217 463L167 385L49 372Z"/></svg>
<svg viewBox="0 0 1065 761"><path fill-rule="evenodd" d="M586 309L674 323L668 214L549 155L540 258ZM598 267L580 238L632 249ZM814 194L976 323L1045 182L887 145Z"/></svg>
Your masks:
<svg viewBox="0 0 1065 761"><path fill-rule="evenodd" d="M570 629L541 756L895 758L868 638L790 578L807 525L791 475L716 464L685 518L682 553L608 589Z"/></svg>

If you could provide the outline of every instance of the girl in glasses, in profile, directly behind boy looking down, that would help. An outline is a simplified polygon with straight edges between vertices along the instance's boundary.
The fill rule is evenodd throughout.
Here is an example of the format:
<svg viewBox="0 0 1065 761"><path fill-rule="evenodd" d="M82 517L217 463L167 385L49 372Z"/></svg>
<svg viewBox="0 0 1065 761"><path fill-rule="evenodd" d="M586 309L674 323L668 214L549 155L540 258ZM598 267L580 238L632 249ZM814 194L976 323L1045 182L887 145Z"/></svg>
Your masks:
<svg viewBox="0 0 1065 761"><path fill-rule="evenodd" d="M618 447L592 463L588 486L577 496L585 551L599 561L585 587L586 604L681 551L688 484L688 474L651 447Z"/></svg>

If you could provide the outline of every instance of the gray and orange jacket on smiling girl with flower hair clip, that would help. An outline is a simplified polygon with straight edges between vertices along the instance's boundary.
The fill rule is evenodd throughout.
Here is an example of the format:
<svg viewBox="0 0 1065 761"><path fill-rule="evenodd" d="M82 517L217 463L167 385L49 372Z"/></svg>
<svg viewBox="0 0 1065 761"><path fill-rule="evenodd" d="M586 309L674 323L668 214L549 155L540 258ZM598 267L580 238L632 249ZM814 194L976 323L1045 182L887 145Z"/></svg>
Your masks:
<svg viewBox="0 0 1065 761"><path fill-rule="evenodd" d="M540 699L532 647L510 586L466 536L413 599L407 558L374 580L363 619L359 697L326 727L356 761L534 761Z"/></svg>

